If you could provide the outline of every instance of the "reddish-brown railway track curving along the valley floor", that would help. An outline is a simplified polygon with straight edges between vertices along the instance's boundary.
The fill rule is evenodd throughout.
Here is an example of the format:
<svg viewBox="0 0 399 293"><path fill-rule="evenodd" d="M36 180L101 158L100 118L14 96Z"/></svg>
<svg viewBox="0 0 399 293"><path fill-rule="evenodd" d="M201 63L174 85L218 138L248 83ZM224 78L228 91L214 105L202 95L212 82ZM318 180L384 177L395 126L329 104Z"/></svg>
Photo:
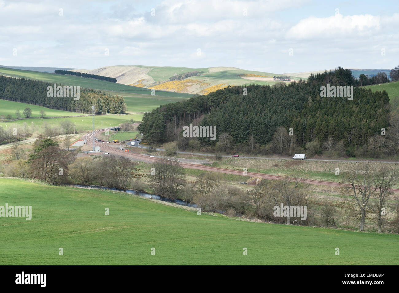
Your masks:
<svg viewBox="0 0 399 293"><path fill-rule="evenodd" d="M91 142L93 142L93 136L95 138L96 134L99 134L99 133L101 133L103 131L105 131L105 129L97 130L97 131L94 132L94 134L93 134L93 132L90 132L89 134L85 134L82 138L84 138L87 141L87 144L89 145ZM120 149L116 149L115 147L110 146L110 144L107 144L107 143L94 141L94 144L95 144L95 146L101 147L101 149L102 149L101 152L105 151L105 152L113 153L115 155L122 155L124 157L131 158L131 159L136 159L136 160L139 160L139 161L144 161L146 163L154 163L154 162L160 160L160 158L148 157L148 156L144 156L144 155L139 155L138 153L122 151ZM204 170L204 171L219 172L219 173L243 176L243 171L239 171L239 170L231 170L231 169L225 169L225 168L216 168L216 167L211 167L211 166L189 164L189 163L180 163L180 164L182 165L183 168L188 168L188 169L197 169L197 170ZM263 173L255 173L255 172L247 172L246 176L250 176L250 177L259 176L259 177L262 177L263 179L273 179L273 180L280 180L280 179L284 178L284 176L269 175L269 174L263 174ZM336 186L336 187L350 187L349 184L331 182L331 181L304 179L303 182L304 183L313 184L313 185L328 185L328 186ZM397 189L397 188L393 188L393 189L391 189L391 191L394 192L394 193L399 193L399 189Z"/></svg>

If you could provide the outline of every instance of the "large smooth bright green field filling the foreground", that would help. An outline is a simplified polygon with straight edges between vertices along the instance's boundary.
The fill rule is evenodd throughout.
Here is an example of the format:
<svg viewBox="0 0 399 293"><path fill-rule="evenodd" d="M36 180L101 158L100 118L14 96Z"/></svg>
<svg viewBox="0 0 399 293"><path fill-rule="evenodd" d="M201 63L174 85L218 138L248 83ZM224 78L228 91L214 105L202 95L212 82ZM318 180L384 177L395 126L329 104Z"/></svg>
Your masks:
<svg viewBox="0 0 399 293"><path fill-rule="evenodd" d="M0 218L1 265L399 264L395 234L199 216L123 193L20 179L1 178L0 190L0 205L32 206L32 220Z"/></svg>

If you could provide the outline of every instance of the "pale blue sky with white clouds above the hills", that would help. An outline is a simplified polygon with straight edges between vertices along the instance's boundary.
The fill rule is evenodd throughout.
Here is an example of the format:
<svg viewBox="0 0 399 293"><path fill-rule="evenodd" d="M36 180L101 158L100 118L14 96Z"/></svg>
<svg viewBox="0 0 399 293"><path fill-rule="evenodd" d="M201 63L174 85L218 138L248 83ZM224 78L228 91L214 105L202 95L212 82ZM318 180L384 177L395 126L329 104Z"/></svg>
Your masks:
<svg viewBox="0 0 399 293"><path fill-rule="evenodd" d="M0 65L392 69L399 1L0 0Z"/></svg>

